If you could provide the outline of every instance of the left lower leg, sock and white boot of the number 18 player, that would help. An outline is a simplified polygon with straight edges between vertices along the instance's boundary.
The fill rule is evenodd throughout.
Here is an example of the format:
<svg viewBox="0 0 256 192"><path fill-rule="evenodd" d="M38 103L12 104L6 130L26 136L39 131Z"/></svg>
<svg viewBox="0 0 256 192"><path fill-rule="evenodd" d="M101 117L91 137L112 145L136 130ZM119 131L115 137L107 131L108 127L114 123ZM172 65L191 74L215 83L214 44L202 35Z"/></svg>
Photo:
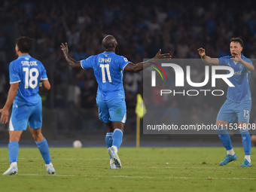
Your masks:
<svg viewBox="0 0 256 192"><path fill-rule="evenodd" d="M3 175L15 175L18 172L17 161L19 155L20 136L22 133L22 130L9 131L8 155L11 165Z"/></svg>

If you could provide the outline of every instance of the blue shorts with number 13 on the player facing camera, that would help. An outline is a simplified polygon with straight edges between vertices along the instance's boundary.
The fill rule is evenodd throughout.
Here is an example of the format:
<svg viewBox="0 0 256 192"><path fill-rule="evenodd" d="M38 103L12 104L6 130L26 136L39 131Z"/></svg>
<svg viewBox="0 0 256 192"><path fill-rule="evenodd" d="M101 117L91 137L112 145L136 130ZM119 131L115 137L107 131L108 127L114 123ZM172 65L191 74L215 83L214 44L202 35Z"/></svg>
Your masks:
<svg viewBox="0 0 256 192"><path fill-rule="evenodd" d="M217 120L226 120L233 123L238 117L238 121L249 122L251 112L251 100L245 102L232 102L227 99L218 111Z"/></svg>

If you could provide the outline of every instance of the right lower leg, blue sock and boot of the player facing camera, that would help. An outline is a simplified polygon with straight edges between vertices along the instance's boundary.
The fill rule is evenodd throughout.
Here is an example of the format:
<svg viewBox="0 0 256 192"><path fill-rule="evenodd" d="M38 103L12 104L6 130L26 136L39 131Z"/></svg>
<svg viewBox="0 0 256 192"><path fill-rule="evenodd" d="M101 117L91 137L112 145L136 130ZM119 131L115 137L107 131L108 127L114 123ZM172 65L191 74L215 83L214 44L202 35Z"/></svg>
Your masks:
<svg viewBox="0 0 256 192"><path fill-rule="evenodd" d="M239 121L238 127L242 136L242 145L245 150L245 160L241 166L251 166L251 136L248 131L248 123Z"/></svg>

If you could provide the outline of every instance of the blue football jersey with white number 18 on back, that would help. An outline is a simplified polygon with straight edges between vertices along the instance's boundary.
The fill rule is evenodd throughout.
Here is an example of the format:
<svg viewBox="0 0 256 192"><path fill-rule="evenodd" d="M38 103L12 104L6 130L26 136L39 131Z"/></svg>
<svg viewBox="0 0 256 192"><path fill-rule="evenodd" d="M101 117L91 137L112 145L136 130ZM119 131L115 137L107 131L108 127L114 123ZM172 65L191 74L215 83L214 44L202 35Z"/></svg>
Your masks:
<svg viewBox="0 0 256 192"><path fill-rule="evenodd" d="M29 55L19 56L10 63L9 73L10 84L20 82L14 105L35 105L41 101L39 82L48 78L40 61Z"/></svg>

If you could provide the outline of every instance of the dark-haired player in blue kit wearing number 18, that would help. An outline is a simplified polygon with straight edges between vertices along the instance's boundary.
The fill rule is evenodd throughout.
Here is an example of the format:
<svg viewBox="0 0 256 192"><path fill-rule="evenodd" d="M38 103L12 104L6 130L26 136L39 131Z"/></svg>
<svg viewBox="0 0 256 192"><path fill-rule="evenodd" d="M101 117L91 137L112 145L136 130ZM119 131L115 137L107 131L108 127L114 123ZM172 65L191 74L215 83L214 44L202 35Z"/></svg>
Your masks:
<svg viewBox="0 0 256 192"><path fill-rule="evenodd" d="M20 136L29 125L29 130L44 159L48 174L55 174L47 140L41 134L42 106L41 96L38 94L39 83L50 90L46 71L43 64L29 55L32 39L21 37L17 39L15 47L18 58L10 63L10 90L4 108L0 109L2 123L8 123L9 108L12 113L9 123L8 154L10 168L3 175L14 175L18 172L17 160L19 154Z"/></svg>

